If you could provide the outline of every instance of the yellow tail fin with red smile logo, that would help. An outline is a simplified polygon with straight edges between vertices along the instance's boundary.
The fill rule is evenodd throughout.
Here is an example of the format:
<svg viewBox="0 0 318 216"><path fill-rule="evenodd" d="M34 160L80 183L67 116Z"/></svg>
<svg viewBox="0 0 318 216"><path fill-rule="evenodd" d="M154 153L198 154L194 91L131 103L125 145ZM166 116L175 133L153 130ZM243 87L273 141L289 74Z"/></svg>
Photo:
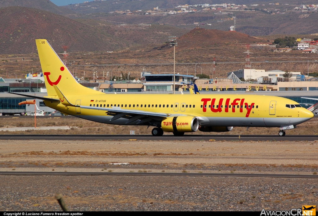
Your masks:
<svg viewBox="0 0 318 216"><path fill-rule="evenodd" d="M47 95L57 95L53 85L56 85L64 95L101 93L79 84L45 39L37 39L35 42L38 48Z"/></svg>

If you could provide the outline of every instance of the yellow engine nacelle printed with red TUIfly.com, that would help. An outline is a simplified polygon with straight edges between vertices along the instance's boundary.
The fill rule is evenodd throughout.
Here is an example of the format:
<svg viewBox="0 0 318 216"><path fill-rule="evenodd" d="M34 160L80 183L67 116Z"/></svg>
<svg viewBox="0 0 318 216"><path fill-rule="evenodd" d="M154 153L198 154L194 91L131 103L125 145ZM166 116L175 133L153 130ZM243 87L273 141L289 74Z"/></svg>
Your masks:
<svg viewBox="0 0 318 216"><path fill-rule="evenodd" d="M161 122L166 132L195 132L199 128L199 120L193 116L173 116Z"/></svg>

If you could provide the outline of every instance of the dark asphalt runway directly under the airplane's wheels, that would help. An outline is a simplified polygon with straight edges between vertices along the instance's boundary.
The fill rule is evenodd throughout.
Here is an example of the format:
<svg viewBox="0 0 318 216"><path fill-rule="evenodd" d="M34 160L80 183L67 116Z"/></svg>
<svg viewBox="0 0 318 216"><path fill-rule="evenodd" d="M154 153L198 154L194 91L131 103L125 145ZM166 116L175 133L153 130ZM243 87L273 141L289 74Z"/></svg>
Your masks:
<svg viewBox="0 0 318 216"><path fill-rule="evenodd" d="M315 141L318 140L318 135L100 135L100 134L30 134L30 135L0 135L0 140L189 140L189 141L209 141L209 140L224 140L224 141Z"/></svg>

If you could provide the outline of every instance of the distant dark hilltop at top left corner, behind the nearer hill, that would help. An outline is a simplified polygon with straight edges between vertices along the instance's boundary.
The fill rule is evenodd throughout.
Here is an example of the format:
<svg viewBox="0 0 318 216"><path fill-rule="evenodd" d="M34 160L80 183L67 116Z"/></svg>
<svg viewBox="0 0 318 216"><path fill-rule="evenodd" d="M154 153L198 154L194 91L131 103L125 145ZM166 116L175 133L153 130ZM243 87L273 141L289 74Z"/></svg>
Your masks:
<svg viewBox="0 0 318 216"><path fill-rule="evenodd" d="M0 0L0 8L10 6L37 8L60 15L74 13L74 11L65 7L59 7L49 0Z"/></svg>

